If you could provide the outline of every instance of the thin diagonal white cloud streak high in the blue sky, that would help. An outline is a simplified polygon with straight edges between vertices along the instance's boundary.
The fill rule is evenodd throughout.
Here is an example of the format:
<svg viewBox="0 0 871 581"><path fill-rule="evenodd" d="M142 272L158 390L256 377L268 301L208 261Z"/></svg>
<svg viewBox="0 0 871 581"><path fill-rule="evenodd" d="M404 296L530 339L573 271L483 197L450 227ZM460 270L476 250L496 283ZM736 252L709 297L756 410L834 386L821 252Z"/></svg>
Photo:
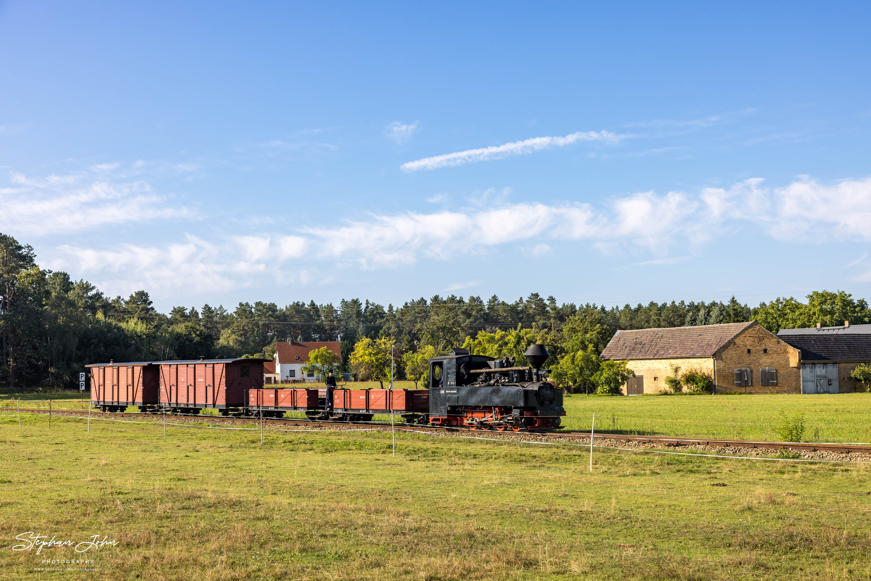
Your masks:
<svg viewBox="0 0 871 581"><path fill-rule="evenodd" d="M488 159L503 159L513 155L526 155L547 147L563 147L578 141L604 141L617 143L623 135L607 131L577 132L565 137L537 137L523 141L512 141L503 145L491 145L480 149L469 149L465 152L445 153L432 158L417 159L402 164L402 171L417 172L419 170L435 170L439 167L463 166L463 164L486 161Z"/></svg>

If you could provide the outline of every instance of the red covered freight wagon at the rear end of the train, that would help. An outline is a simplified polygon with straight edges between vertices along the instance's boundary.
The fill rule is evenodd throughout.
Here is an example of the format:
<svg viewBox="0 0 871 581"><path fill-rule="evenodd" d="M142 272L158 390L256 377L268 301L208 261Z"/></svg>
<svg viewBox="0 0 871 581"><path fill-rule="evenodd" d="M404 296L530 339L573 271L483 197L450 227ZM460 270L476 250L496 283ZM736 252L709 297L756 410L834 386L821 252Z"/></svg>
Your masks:
<svg viewBox="0 0 871 581"><path fill-rule="evenodd" d="M157 406L159 373L151 361L110 361L84 367L88 368L91 382L92 406L103 411L125 411L127 406L148 411Z"/></svg>

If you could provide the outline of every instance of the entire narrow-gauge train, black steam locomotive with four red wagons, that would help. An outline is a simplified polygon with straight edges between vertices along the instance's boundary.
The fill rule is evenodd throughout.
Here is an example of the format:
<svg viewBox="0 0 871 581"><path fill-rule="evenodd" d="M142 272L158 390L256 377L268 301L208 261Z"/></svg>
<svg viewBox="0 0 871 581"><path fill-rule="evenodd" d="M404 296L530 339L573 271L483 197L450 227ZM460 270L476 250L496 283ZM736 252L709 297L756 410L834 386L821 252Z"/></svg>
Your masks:
<svg viewBox="0 0 871 581"><path fill-rule="evenodd" d="M315 421L369 422L398 414L404 422L469 429L529 431L560 427L563 391L541 366L544 345L513 357L471 355L463 348L429 360L429 389L326 389L263 386L263 360L137 361L89 368L91 405L104 411L138 406L145 413L283 417L303 412Z"/></svg>

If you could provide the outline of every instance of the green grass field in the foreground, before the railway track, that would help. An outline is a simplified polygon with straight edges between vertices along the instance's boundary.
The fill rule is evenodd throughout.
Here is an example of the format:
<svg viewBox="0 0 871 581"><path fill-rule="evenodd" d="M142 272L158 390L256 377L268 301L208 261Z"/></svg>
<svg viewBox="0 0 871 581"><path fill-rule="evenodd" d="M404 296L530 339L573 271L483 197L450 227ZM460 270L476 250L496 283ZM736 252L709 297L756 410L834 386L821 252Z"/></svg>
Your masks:
<svg viewBox="0 0 871 581"><path fill-rule="evenodd" d="M167 432L0 416L0 577L871 578L861 464L598 449L591 473L577 446ZM119 544L84 553L99 571L37 571L83 555L11 551L27 531Z"/></svg>

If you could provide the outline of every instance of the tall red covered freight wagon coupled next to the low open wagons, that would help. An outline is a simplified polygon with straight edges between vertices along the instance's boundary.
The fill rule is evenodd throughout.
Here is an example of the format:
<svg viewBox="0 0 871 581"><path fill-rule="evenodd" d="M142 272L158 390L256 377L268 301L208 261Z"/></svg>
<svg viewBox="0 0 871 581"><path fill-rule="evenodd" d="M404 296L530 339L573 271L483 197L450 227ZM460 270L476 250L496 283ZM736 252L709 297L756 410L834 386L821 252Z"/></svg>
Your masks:
<svg viewBox="0 0 871 581"><path fill-rule="evenodd" d="M181 414L241 413L248 390L263 387L263 359L159 361L160 408Z"/></svg>

